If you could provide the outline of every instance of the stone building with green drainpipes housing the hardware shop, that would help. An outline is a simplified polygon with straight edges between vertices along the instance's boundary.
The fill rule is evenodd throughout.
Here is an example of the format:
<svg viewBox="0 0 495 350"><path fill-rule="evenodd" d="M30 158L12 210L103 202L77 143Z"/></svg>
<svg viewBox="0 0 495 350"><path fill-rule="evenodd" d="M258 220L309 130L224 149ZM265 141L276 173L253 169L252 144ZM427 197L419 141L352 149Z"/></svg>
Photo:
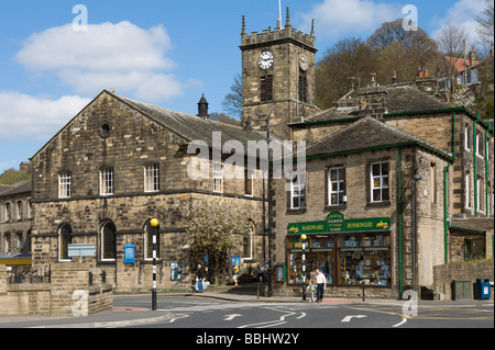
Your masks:
<svg viewBox="0 0 495 350"><path fill-rule="evenodd" d="M493 257L491 123L420 83L372 82L289 126L309 147L306 171L273 183L285 292L300 290L302 244L339 296L363 283L374 296L427 295L435 266Z"/></svg>

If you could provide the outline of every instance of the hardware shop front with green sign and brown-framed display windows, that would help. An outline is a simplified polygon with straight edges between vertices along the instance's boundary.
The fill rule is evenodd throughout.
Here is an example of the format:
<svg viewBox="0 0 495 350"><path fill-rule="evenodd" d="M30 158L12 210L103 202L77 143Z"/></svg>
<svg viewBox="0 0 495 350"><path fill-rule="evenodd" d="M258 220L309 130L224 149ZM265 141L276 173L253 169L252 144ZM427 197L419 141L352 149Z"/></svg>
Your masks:
<svg viewBox="0 0 495 350"><path fill-rule="evenodd" d="M328 286L391 287L389 222L389 217L344 219L342 213L332 212L322 222L289 224L287 284L302 283L305 258L307 280L320 269Z"/></svg>

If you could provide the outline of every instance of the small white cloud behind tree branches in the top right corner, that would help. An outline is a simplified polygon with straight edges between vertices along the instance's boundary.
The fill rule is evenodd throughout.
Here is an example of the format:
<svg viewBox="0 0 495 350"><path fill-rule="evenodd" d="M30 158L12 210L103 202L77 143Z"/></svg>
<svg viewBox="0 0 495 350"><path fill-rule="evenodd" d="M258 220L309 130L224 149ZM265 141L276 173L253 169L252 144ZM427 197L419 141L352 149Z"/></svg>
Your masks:
<svg viewBox="0 0 495 350"><path fill-rule="evenodd" d="M484 0L460 0L455 2L450 9L446 11L446 15L441 19L436 19L437 30L431 35L432 38L438 38L443 26L448 24L463 27L468 34L468 42L473 45L477 38L476 26L474 20L476 15L485 9Z"/></svg>

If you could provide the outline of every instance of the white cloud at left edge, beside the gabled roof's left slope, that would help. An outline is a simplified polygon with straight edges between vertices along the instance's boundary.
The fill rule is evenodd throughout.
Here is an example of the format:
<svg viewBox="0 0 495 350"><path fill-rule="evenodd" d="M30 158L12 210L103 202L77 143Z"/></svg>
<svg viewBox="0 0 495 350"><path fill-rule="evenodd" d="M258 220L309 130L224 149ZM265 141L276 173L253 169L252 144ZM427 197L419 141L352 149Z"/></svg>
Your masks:
<svg viewBox="0 0 495 350"><path fill-rule="evenodd" d="M50 100L0 91L0 139L46 140L89 102L77 95Z"/></svg>

